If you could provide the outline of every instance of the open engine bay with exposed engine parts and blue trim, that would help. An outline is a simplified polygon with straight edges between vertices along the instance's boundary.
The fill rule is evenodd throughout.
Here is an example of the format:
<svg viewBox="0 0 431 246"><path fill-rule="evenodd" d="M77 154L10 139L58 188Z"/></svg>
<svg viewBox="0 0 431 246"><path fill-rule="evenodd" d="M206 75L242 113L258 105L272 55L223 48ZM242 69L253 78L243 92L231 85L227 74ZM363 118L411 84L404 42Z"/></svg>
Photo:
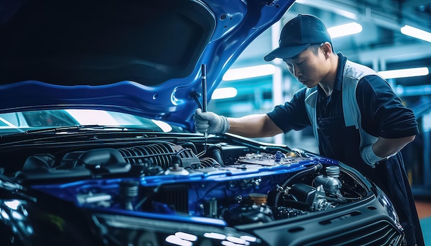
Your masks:
<svg viewBox="0 0 431 246"><path fill-rule="evenodd" d="M230 226L333 210L368 194L337 161L294 150L160 139L71 149L26 157L14 179L81 208Z"/></svg>

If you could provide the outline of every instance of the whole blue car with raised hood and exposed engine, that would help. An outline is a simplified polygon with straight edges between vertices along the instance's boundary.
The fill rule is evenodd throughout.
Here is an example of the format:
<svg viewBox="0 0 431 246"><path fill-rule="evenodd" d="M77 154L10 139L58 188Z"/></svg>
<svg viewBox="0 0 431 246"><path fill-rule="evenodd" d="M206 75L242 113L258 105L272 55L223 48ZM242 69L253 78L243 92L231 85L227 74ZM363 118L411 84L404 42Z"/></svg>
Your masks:
<svg viewBox="0 0 431 246"><path fill-rule="evenodd" d="M194 131L292 4L1 1L1 245L403 245L348 165Z"/></svg>

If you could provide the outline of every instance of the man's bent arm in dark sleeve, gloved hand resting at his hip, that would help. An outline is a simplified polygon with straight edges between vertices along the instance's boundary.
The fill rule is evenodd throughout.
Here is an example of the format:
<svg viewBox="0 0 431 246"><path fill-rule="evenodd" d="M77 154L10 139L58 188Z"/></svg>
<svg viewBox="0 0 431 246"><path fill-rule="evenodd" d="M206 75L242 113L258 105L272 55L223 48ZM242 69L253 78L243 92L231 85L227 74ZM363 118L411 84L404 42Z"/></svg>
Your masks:
<svg viewBox="0 0 431 246"><path fill-rule="evenodd" d="M395 155L419 133L413 111L405 107L390 85L378 76L366 76L359 81L357 99L362 127L371 135L379 136L377 142L361 150L366 164L373 166ZM406 135L409 136L400 137Z"/></svg>

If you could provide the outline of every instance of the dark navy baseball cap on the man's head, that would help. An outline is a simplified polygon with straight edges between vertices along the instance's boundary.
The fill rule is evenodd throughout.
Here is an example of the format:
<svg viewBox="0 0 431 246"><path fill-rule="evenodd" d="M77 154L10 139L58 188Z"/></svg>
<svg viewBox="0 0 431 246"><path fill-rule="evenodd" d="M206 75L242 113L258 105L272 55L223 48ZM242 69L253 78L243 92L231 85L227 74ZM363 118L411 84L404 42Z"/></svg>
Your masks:
<svg viewBox="0 0 431 246"><path fill-rule="evenodd" d="M280 34L280 47L264 56L264 60L291 58L313 43L332 43L322 20L311 14L298 14L284 25Z"/></svg>

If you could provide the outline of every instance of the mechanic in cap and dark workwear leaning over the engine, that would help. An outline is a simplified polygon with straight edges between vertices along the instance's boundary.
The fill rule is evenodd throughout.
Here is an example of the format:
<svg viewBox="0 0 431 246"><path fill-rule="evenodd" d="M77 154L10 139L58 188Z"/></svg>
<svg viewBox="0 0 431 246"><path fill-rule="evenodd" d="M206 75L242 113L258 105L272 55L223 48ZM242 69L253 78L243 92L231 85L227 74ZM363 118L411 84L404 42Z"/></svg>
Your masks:
<svg viewBox="0 0 431 246"><path fill-rule="evenodd" d="M319 153L359 170L395 205L408 245L424 245L401 150L419 133L412 111L375 71L335 54L324 23L298 14L284 25L280 47L264 56L282 58L306 87L266 114L226 118L196 110L200 133L269 137L313 126Z"/></svg>

